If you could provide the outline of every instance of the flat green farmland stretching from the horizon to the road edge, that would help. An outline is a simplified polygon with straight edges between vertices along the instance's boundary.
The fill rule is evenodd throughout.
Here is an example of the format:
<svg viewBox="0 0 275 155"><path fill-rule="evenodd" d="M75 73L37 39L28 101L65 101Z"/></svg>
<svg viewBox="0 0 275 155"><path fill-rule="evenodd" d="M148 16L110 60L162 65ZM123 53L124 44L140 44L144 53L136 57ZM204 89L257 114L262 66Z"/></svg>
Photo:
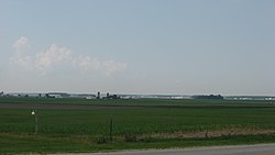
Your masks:
<svg viewBox="0 0 275 155"><path fill-rule="evenodd" d="M1 108L4 103L11 108ZM53 107L38 109L36 135L28 104ZM0 98L1 154L273 142L275 104L271 101Z"/></svg>

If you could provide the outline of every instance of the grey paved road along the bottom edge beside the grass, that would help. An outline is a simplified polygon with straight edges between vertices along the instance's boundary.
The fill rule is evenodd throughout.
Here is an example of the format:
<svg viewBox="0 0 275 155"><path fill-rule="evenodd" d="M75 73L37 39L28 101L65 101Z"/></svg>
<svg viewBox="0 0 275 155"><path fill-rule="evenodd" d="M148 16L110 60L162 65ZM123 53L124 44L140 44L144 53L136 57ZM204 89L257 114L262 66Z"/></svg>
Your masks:
<svg viewBox="0 0 275 155"><path fill-rule="evenodd" d="M198 147L180 150L127 151L116 153L94 153L77 155L275 155L275 144Z"/></svg>

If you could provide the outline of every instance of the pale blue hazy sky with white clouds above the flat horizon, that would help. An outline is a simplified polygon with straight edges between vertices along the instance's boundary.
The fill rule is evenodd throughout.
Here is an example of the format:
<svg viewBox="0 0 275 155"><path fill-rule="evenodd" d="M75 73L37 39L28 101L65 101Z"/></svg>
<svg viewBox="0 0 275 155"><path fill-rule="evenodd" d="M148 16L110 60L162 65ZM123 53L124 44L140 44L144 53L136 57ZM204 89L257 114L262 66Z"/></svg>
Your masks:
<svg viewBox="0 0 275 155"><path fill-rule="evenodd" d="M0 0L0 91L275 95L274 0Z"/></svg>

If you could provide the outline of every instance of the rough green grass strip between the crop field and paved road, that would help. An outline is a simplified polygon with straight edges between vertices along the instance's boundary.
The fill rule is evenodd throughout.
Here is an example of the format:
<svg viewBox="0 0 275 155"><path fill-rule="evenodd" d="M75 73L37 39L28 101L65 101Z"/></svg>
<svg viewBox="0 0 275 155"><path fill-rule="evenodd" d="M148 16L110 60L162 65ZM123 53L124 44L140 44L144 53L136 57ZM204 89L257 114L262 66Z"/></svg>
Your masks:
<svg viewBox="0 0 275 155"><path fill-rule="evenodd" d="M89 136L55 136L46 135L0 135L1 154L48 154L48 153L92 153L122 150L146 148L184 148L195 146L221 146L275 143L275 134L258 135L223 135L204 139L144 139L140 141L109 141L98 143Z"/></svg>

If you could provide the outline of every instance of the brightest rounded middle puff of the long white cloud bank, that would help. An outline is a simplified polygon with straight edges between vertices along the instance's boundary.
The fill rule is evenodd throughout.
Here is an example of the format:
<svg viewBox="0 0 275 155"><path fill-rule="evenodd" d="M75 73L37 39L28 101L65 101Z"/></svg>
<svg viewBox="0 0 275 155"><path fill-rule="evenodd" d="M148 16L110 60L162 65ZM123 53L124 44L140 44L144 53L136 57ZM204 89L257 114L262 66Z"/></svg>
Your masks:
<svg viewBox="0 0 275 155"><path fill-rule="evenodd" d="M54 65L69 60L72 60L69 48L52 44L46 52L36 54L35 66L40 69L47 69Z"/></svg>

